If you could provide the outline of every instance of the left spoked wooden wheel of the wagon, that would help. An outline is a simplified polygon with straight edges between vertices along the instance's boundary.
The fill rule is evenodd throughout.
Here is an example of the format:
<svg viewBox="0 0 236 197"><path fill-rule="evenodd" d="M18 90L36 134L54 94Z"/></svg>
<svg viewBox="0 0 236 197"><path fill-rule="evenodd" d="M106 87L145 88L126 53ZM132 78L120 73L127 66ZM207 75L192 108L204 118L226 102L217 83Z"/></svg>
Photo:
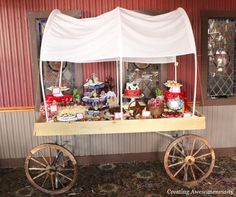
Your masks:
<svg viewBox="0 0 236 197"><path fill-rule="evenodd" d="M25 160L30 183L50 195L68 191L77 180L78 166L74 156L56 144L34 147Z"/></svg>

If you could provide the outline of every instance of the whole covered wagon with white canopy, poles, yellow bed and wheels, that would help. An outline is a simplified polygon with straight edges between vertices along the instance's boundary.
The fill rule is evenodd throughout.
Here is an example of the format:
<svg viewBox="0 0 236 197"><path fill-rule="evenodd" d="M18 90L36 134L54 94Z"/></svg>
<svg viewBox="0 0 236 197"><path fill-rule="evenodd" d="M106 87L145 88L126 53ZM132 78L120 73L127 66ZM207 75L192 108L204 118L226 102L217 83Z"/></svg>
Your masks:
<svg viewBox="0 0 236 197"><path fill-rule="evenodd" d="M165 27L168 28L165 30ZM153 35L150 35L151 32ZM142 42L143 40L145 42ZM123 63L173 63L177 73L176 56L189 54L195 58L191 117L124 120ZM120 119L49 122L42 76L43 61L61 61L62 64L63 62L117 62ZM181 69L181 66L179 67ZM182 8L160 16L148 16L118 7L98 17L87 19L75 19L62 14L59 10L54 10L44 31L40 73L46 121L35 122L33 135L155 132L172 140L164 155L164 167L173 181L192 187L210 175L215 162L212 147L200 136L184 135L186 130L204 129L205 117L195 109L196 47L191 24ZM173 137L171 131L178 131L183 135ZM68 191L76 183L77 161L70 151L57 143L41 144L34 147L27 155L25 173L30 183L37 189L50 195L60 194Z"/></svg>

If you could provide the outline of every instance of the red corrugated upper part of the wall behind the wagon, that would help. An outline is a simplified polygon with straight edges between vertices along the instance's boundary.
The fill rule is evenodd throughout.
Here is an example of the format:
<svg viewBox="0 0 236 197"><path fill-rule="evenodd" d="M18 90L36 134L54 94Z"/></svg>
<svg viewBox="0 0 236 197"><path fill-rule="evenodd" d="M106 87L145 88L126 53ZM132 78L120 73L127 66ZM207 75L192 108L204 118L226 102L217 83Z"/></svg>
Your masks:
<svg viewBox="0 0 236 197"><path fill-rule="evenodd" d="M201 10L235 10L235 0L0 0L0 108L34 106L28 11L78 9L83 17L92 17L117 6L133 10L174 10L183 7L189 15L195 35L198 65L201 68ZM112 63L86 65L84 77L96 71L101 79L115 75ZM179 58L178 77L192 97L193 57ZM181 71L180 71L181 69ZM173 68L169 69L170 78ZM199 75L200 76L200 75ZM200 78L199 78L200 79ZM198 82L200 99L200 80Z"/></svg>

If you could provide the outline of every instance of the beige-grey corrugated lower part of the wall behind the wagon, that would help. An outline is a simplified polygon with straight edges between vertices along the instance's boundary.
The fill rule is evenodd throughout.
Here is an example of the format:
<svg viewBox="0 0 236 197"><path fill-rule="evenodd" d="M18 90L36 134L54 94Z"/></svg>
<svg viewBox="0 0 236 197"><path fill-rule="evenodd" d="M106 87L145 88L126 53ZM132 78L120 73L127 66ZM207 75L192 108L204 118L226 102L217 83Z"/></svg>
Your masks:
<svg viewBox="0 0 236 197"><path fill-rule="evenodd" d="M236 106L200 110L207 117L206 129L191 133L205 137L214 148L235 147ZM35 137L32 134L35 118L34 112L0 113L0 159L24 158L33 146L45 142L67 143L66 147L76 156L162 152L170 142L157 133Z"/></svg>

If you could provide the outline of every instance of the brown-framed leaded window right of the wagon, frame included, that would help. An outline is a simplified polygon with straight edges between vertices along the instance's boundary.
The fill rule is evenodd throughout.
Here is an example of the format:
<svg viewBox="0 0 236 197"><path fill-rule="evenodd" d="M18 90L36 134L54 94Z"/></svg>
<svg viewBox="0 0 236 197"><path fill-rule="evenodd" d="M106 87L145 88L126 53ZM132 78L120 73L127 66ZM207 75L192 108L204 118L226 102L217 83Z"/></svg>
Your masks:
<svg viewBox="0 0 236 197"><path fill-rule="evenodd" d="M202 11L202 104L236 104L236 12Z"/></svg>

